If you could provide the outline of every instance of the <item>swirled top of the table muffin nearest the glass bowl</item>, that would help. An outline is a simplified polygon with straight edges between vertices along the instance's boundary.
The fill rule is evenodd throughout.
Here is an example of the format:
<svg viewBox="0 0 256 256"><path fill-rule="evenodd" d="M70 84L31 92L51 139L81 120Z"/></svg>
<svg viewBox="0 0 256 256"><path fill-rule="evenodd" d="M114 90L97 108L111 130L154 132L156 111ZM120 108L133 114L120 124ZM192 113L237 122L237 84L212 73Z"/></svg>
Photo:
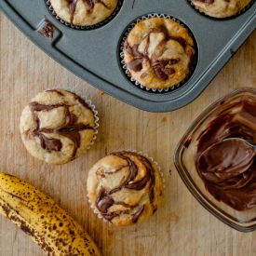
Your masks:
<svg viewBox="0 0 256 256"><path fill-rule="evenodd" d="M162 189L162 177L155 163L133 152L107 155L88 172L92 209L115 225L149 218L161 203Z"/></svg>

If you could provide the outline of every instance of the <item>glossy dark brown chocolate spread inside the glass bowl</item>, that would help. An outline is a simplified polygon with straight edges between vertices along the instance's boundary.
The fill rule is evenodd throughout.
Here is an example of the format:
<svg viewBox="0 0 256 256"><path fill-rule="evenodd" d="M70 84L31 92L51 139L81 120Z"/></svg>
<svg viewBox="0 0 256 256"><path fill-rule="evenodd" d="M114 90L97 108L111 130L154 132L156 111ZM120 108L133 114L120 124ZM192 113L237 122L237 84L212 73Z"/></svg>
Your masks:
<svg viewBox="0 0 256 256"><path fill-rule="evenodd" d="M222 105L220 106L222 108ZM215 199L236 210L256 207L256 101L247 97L216 115L197 138L196 168Z"/></svg>

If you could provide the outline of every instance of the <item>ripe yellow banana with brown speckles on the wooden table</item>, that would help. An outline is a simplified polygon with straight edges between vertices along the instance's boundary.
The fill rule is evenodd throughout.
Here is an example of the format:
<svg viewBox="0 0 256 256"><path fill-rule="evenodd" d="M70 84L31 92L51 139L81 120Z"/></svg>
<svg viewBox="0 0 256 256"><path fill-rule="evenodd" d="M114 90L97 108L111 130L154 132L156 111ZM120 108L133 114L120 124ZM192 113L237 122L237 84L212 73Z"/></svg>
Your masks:
<svg viewBox="0 0 256 256"><path fill-rule="evenodd" d="M0 213L49 256L99 256L94 242L61 207L28 182L0 172Z"/></svg>

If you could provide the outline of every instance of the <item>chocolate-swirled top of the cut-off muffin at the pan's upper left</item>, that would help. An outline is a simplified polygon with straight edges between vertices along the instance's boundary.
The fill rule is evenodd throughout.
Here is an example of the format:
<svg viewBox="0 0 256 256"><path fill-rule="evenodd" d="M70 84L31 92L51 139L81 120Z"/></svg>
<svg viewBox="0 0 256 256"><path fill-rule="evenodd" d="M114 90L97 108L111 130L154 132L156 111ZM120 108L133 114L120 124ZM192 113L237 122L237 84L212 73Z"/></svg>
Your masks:
<svg viewBox="0 0 256 256"><path fill-rule="evenodd" d="M56 14L71 24L90 26L106 20L118 0L50 0Z"/></svg>

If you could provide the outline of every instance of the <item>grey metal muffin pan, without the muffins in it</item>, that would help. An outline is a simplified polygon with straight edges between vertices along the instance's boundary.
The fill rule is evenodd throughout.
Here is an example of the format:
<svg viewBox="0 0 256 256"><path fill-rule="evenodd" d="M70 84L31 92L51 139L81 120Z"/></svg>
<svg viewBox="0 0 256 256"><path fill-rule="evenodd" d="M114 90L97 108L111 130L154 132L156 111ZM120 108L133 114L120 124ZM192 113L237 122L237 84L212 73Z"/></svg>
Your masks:
<svg viewBox="0 0 256 256"><path fill-rule="evenodd" d="M201 15L186 0L136 0L134 5L133 1L124 0L113 20L90 31L74 30L56 20L44 0L1 0L0 5L7 17L54 60L96 88L151 112L175 110L195 100L256 28L255 3L236 18L212 20ZM168 93L141 90L121 71L120 37L132 20L148 13L164 13L182 20L197 42L195 73L181 88ZM38 33L45 15L55 28L52 40Z"/></svg>

